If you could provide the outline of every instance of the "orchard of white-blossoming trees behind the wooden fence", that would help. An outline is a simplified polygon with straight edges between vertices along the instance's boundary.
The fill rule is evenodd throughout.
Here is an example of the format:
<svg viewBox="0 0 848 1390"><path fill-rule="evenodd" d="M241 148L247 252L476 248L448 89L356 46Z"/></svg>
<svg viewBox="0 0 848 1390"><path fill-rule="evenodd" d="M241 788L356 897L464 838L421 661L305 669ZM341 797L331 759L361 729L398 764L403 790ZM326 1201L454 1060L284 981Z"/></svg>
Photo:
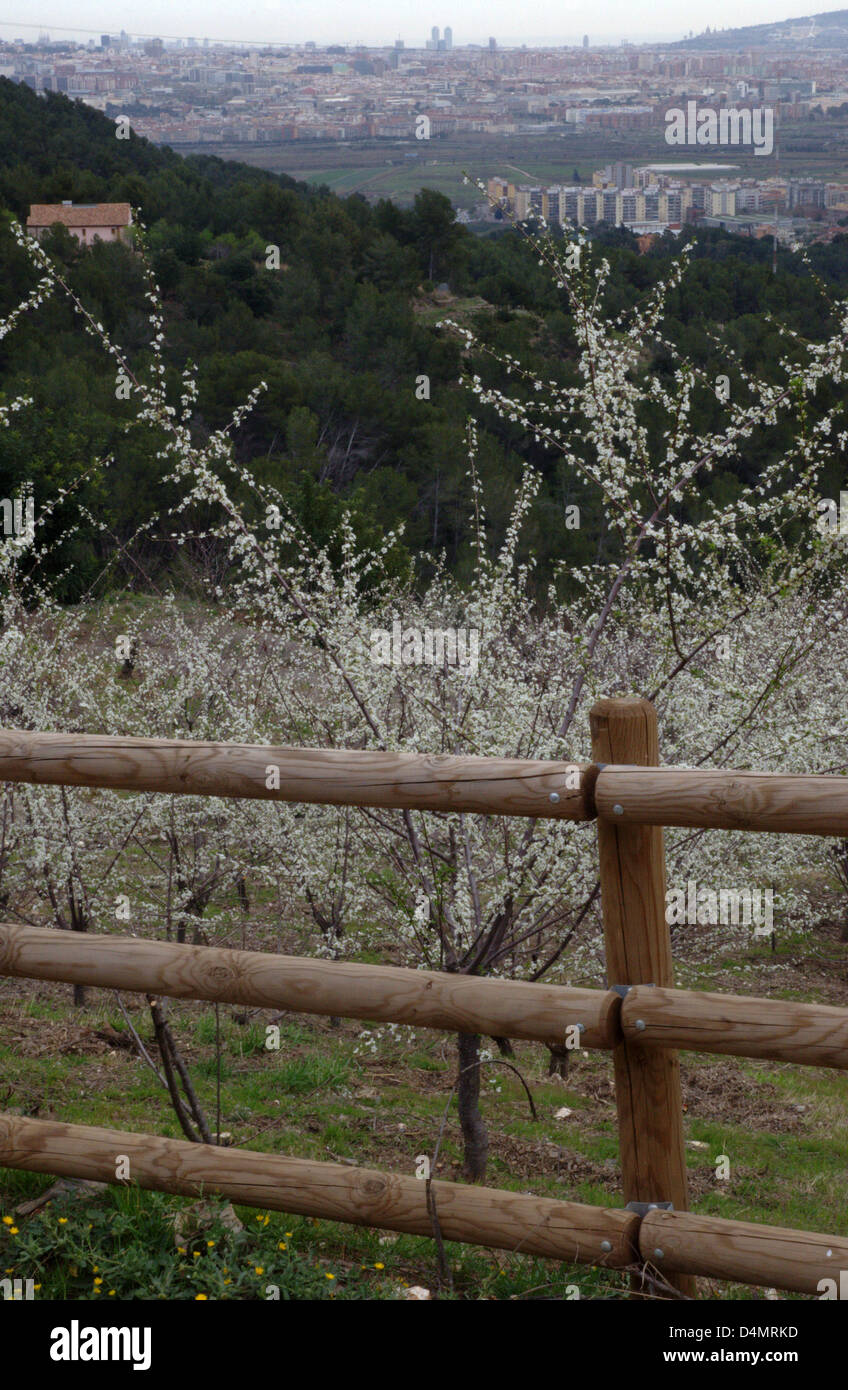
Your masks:
<svg viewBox="0 0 848 1390"><path fill-rule="evenodd" d="M663 332L685 254L633 311L610 316L609 267L591 242L528 238L573 325L578 377L567 388L541 379L473 329L442 322L459 339L468 388L474 564L460 581L439 556L400 573L399 538L364 546L348 520L331 545L317 543L236 453L263 382L227 428L200 428L190 371L175 386L165 366L152 272L138 367L43 247L17 235L38 284L0 332L46 297L70 296L104 373L129 386L128 428L167 468L168 502L150 496L146 534L190 553L204 591L153 587L139 573L127 595L104 574L83 602L63 606L42 577L40 534L74 495L38 496L35 534L0 543L4 727L584 760L591 705L641 695L656 705L666 763L847 770L848 538L817 518L820 475L848 436L848 304L830 306L837 327L826 341L787 328L767 379L728 348L719 423L696 434L692 403L716 396L716 382ZM833 404L813 416L816 392ZM10 416L28 407L0 407L0 448ZM538 491L531 467L505 542L489 539L477 423L492 416L556 455L571 495L602 517L596 560L542 594L521 559ZM759 471L747 466L752 441L758 450L773 441ZM92 460L106 486L108 467ZM738 480L724 502L705 486L719 467ZM448 648L421 659L432 634L459 630L474 634L474 662ZM377 660L375 634L391 632L400 656ZM667 831L666 855L670 887L773 888L777 924L795 927L813 923L810 883L830 865L827 842L812 837L730 831ZM598 984L603 972L595 835L555 820L7 785L0 903L8 920L70 930L367 951L552 983ZM734 931L744 940L751 927L708 913L674 926L681 970ZM488 1151L481 1045L457 1038L471 1179L484 1176Z"/></svg>

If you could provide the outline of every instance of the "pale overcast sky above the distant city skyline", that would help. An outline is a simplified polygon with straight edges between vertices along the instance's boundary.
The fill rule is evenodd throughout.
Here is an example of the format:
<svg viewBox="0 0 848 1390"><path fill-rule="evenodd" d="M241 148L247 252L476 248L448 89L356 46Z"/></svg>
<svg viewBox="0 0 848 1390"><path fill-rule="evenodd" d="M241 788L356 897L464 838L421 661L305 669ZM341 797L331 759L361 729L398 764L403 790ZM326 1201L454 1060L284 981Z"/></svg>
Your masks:
<svg viewBox="0 0 848 1390"><path fill-rule="evenodd" d="M816 10L822 0L817 0ZM826 6L838 10L842 6ZM3 38L88 38L101 32L163 38L239 39L252 42L392 43L421 46L430 28L452 25L455 44L567 43L588 33L589 42L680 39L690 29L766 24L801 18L798 0L7 0L0 19ZM819 11L822 13L822 11Z"/></svg>

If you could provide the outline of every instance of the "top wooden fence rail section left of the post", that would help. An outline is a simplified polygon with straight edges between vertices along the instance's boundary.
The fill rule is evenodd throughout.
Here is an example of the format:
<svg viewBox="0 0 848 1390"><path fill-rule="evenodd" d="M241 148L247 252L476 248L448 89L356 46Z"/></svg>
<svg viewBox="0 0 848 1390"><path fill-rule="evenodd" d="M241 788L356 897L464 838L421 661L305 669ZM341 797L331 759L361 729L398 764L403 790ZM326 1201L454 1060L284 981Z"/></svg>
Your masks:
<svg viewBox="0 0 848 1390"><path fill-rule="evenodd" d="M0 730L0 783L591 820L594 780L591 763Z"/></svg>

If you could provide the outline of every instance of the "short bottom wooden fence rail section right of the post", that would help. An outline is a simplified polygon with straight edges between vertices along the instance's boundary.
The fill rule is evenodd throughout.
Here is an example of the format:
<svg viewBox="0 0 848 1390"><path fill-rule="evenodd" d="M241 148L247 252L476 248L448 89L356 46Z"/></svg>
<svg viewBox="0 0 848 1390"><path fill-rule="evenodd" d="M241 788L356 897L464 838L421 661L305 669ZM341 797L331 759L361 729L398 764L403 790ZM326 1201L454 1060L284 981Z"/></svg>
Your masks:
<svg viewBox="0 0 848 1390"><path fill-rule="evenodd" d="M639 1229L639 1252L663 1273L677 1270L706 1279L733 1279L801 1294L817 1293L820 1279L835 1279L838 1290L840 1269L848 1269L845 1236L819 1236L692 1212L648 1212Z"/></svg>

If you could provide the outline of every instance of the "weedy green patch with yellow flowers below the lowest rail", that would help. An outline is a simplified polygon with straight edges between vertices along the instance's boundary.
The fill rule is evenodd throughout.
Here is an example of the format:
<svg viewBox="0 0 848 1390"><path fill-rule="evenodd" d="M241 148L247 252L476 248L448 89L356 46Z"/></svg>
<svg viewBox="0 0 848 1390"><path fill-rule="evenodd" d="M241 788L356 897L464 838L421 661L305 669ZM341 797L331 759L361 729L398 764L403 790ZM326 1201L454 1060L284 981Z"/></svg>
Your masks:
<svg viewBox="0 0 848 1390"><path fill-rule="evenodd" d="M14 1201L42 1180L1 1173ZM304 1216L197 1204L138 1188L96 1201L60 1197L26 1223L0 1227L4 1277L33 1279L36 1298L399 1300L432 1273L432 1247L416 1236L341 1227ZM232 1219L232 1218L231 1218ZM175 1220L181 1225L175 1229ZM619 1275L446 1244L455 1298L617 1297Z"/></svg>

